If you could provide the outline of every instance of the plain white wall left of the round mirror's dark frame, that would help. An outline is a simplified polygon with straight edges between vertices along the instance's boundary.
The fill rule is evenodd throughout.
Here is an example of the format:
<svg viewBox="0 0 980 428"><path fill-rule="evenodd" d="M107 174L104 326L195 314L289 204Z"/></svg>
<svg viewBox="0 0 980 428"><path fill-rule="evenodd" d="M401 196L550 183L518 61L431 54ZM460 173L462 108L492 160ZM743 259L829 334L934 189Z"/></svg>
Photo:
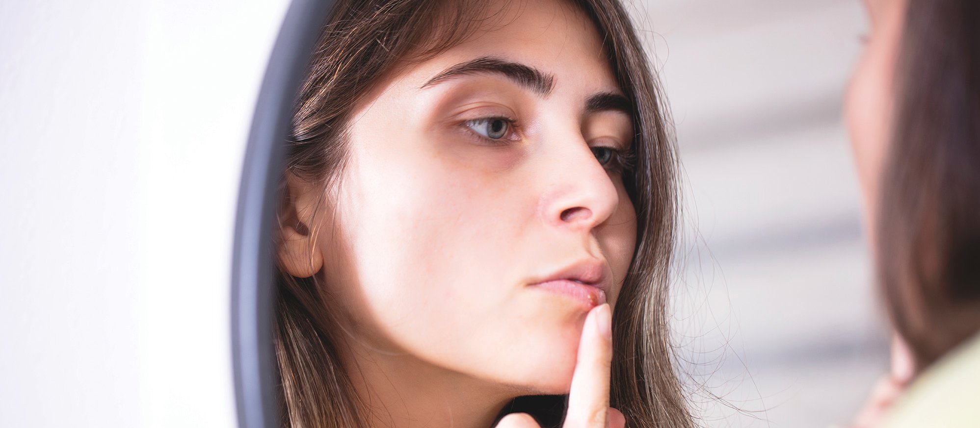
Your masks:
<svg viewBox="0 0 980 428"><path fill-rule="evenodd" d="M286 3L0 3L0 426L234 425L235 198Z"/></svg>

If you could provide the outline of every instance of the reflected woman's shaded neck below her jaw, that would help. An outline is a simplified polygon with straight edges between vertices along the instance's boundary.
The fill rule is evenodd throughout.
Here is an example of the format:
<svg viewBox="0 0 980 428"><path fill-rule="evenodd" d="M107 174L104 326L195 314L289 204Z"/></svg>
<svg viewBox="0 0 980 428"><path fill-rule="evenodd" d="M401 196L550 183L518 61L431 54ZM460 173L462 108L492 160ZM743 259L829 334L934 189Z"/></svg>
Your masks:
<svg viewBox="0 0 980 428"><path fill-rule="evenodd" d="M373 428L490 428L515 389L351 340L345 365Z"/></svg>

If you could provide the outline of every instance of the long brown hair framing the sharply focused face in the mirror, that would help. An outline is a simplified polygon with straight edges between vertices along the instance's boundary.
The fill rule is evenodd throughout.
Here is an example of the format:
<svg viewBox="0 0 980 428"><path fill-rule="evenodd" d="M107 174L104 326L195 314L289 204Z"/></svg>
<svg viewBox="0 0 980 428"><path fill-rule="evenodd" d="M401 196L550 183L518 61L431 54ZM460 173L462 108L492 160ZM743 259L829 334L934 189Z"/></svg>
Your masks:
<svg viewBox="0 0 980 428"><path fill-rule="evenodd" d="M287 170L319 183L339 183L348 115L382 76L406 62L438 55L480 24L485 3L445 0L340 0L324 25L300 93L288 141ZM611 404L631 427L694 425L673 371L666 329L668 271L674 243L677 159L660 83L617 0L576 0L604 34L610 67L632 99L636 165L623 181L637 215L637 245L613 311ZM315 231L311 231L315 233ZM276 356L282 424L294 428L363 426L365 410L339 350L343 338L325 308L318 275L279 269ZM534 402L527 402L534 403ZM532 405L532 407L535 405ZM544 419L564 406L536 405Z"/></svg>

